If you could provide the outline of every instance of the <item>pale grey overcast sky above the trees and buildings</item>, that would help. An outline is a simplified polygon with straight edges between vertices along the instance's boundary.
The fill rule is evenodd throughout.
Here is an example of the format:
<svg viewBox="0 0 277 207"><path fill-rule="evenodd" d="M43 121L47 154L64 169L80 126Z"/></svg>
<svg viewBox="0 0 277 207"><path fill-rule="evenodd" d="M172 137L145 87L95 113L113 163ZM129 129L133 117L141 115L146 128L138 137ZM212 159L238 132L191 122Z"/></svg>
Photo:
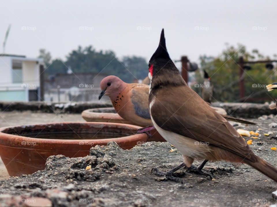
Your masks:
<svg viewBox="0 0 277 207"><path fill-rule="evenodd" d="M78 45L139 55L147 61L161 29L172 59L218 55L225 42L277 53L277 1L12 1L0 0L0 42L6 53L37 57L45 48L63 60ZM254 27L254 29L253 29ZM1 51L2 53L2 47Z"/></svg>

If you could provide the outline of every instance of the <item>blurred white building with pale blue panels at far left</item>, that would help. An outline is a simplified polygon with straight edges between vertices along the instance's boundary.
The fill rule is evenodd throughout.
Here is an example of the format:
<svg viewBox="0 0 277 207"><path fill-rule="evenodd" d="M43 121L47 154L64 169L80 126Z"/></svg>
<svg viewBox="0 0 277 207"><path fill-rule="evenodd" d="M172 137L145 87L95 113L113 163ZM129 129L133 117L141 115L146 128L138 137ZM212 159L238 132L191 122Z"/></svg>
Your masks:
<svg viewBox="0 0 277 207"><path fill-rule="evenodd" d="M0 101L38 101L41 58L0 54Z"/></svg>

